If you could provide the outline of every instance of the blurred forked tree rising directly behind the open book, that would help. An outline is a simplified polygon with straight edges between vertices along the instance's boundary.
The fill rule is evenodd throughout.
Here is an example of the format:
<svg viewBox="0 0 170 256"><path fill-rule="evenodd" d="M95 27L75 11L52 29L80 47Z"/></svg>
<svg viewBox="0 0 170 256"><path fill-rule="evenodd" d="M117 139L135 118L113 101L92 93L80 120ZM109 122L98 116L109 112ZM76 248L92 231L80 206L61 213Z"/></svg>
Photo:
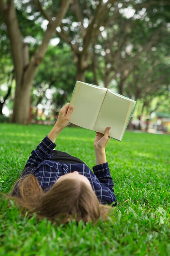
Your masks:
<svg viewBox="0 0 170 256"><path fill-rule="evenodd" d="M68 45L74 55L76 79L84 81L92 52L91 46L97 40L100 27L113 15L115 0L73 0L65 19L57 28L57 35Z"/></svg>

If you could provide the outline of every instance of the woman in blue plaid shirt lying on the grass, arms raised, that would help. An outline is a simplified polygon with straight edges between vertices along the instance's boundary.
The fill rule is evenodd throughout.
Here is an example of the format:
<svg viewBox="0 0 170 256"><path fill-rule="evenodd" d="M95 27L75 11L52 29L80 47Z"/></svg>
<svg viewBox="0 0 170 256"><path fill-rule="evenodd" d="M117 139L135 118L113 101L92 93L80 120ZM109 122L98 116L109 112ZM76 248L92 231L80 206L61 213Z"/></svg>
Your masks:
<svg viewBox="0 0 170 256"><path fill-rule="evenodd" d="M68 125L73 107L61 108L57 122L35 150L31 152L10 198L38 218L68 222L104 220L111 207L116 206L113 179L106 162L105 148L110 140L110 127L104 135L96 132L94 173L84 162L65 152L54 150L55 140Z"/></svg>

